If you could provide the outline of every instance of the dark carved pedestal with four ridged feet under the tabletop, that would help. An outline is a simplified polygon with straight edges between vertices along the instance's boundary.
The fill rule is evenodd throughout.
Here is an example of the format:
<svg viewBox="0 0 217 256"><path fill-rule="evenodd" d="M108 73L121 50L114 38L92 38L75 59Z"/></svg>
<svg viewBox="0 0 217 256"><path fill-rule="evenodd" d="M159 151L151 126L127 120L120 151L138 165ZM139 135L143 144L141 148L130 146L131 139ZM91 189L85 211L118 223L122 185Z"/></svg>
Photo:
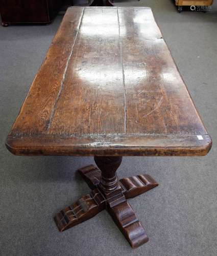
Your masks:
<svg viewBox="0 0 217 256"><path fill-rule="evenodd" d="M64 231L107 209L133 248L148 242L146 231L127 199L145 193L158 184L149 175L118 180L116 169L122 157L94 157L94 160L100 169L89 165L78 170L92 191L54 217L59 230Z"/></svg>

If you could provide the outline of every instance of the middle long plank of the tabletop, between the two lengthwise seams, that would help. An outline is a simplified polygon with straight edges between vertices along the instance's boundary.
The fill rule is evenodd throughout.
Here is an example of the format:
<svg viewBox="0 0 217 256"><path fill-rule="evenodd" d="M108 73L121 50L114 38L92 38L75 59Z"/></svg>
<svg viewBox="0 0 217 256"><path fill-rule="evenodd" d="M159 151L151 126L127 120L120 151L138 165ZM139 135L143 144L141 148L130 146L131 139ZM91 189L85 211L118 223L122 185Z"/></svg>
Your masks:
<svg viewBox="0 0 217 256"><path fill-rule="evenodd" d="M49 134L124 133L119 52L116 8L86 8Z"/></svg>

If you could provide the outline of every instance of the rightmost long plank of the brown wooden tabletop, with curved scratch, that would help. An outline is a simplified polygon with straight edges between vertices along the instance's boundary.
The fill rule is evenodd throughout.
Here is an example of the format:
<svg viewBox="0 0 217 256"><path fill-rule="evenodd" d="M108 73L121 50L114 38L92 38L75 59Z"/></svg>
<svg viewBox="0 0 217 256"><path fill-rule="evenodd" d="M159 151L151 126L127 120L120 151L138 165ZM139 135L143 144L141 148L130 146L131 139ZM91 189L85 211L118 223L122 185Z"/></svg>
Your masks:
<svg viewBox="0 0 217 256"><path fill-rule="evenodd" d="M127 133L205 134L151 9L118 13L126 33L121 34Z"/></svg>

